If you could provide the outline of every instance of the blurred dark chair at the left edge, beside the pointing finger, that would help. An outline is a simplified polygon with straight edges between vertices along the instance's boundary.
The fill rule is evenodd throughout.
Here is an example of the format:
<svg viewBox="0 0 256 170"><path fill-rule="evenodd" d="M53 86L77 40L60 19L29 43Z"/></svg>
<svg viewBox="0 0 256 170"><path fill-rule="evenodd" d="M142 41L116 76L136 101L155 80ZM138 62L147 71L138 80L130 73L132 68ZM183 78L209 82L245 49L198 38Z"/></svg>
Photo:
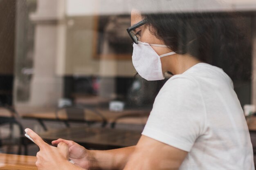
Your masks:
<svg viewBox="0 0 256 170"><path fill-rule="evenodd" d="M0 106L0 126L1 128L5 128L5 126L9 125L9 134L4 135L0 133L0 146L7 146L7 153L12 153L10 150L13 145L18 145L18 155L21 154L21 146L23 144L22 135L23 135L23 127L20 124L20 117L16 110L11 106ZM15 137L14 127L18 126L19 136ZM6 128L5 128L6 130Z"/></svg>

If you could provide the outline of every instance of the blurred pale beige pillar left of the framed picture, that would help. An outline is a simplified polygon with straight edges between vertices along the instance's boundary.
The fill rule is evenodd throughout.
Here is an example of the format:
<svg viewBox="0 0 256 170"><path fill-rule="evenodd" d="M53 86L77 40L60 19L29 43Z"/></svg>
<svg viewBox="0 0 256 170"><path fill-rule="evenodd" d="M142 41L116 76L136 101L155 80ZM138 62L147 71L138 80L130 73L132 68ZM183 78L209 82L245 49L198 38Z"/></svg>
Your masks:
<svg viewBox="0 0 256 170"><path fill-rule="evenodd" d="M56 74L61 24L65 19L64 0L38 0L30 15L35 26L34 75L29 105L55 107L63 95L63 79ZM62 32L62 31L61 31ZM63 44L63 43L61 43ZM64 54L63 54L64 55Z"/></svg>

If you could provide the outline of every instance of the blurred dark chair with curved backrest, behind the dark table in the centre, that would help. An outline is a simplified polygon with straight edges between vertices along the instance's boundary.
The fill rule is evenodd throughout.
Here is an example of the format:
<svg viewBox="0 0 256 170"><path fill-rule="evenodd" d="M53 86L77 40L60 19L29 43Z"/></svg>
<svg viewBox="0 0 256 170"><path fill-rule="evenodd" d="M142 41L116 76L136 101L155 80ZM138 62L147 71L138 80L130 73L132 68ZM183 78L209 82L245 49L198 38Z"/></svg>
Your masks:
<svg viewBox="0 0 256 170"><path fill-rule="evenodd" d="M106 118L94 108L84 108L81 106L64 106L62 108L58 108L55 114L56 114L56 118L59 121L63 121L66 127L70 127L70 122L86 123L90 126L91 124L94 124L97 121L86 120L86 115L88 114L89 110L90 110L90 113L96 114L101 118L102 120L101 126L105 127L107 124Z"/></svg>

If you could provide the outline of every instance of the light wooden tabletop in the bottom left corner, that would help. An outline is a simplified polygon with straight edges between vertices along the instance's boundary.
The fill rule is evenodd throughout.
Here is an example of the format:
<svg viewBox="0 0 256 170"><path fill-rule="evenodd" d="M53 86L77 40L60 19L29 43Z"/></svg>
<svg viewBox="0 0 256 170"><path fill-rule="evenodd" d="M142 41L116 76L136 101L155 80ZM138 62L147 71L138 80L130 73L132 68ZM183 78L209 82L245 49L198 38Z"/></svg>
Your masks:
<svg viewBox="0 0 256 170"><path fill-rule="evenodd" d="M1 170L37 170L36 157L0 154Z"/></svg>

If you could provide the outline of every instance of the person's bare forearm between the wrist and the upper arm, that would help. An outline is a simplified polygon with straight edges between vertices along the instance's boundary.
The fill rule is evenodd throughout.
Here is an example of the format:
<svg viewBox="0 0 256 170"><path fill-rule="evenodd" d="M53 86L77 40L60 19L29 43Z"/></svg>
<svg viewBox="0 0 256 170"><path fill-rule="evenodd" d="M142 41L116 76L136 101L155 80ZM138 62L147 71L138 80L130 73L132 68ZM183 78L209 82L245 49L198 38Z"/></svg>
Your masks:
<svg viewBox="0 0 256 170"><path fill-rule="evenodd" d="M122 170L128 162L135 146L114 150L91 150L91 170Z"/></svg>

